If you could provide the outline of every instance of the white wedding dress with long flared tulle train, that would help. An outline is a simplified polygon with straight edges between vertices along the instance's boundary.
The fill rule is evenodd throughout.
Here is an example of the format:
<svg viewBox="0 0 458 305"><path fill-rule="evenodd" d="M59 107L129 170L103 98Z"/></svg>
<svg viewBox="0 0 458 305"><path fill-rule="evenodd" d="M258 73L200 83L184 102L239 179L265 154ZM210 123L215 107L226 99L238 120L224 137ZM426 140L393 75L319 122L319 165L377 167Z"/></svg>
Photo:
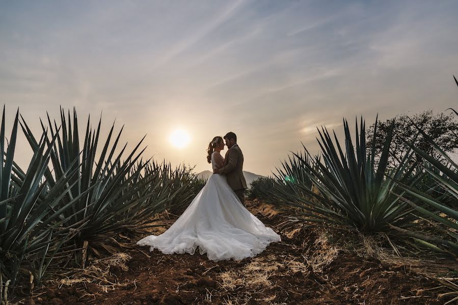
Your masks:
<svg viewBox="0 0 458 305"><path fill-rule="evenodd" d="M211 155L213 169L217 168ZM226 176L212 174L177 221L163 234L150 235L137 242L162 253L200 254L208 259L241 260L261 253L280 235L267 228L245 208L227 184Z"/></svg>

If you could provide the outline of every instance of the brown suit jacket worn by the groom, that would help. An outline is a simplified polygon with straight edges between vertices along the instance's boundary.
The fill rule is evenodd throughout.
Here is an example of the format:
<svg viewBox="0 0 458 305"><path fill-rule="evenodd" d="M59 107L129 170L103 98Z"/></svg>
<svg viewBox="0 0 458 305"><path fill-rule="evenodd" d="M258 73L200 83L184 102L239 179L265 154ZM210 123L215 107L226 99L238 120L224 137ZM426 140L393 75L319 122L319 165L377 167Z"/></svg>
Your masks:
<svg viewBox="0 0 458 305"><path fill-rule="evenodd" d="M234 191L247 189L243 168L244 154L235 144L226 151L224 166L220 169L220 173L226 175L227 183Z"/></svg>

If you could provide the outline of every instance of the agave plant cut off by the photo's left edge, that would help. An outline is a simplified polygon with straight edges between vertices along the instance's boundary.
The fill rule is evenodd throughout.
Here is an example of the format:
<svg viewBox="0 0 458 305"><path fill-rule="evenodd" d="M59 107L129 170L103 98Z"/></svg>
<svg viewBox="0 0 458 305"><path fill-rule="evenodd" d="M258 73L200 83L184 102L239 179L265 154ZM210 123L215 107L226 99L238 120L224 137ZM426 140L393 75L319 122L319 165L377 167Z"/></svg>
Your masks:
<svg viewBox="0 0 458 305"><path fill-rule="evenodd" d="M47 168L52 144L57 136L51 135L49 145L46 144L46 132L37 143L28 169L24 172L13 161L18 128L16 113L11 138L5 151L5 107L0 129L0 278L5 283L16 285L21 268L31 268L35 264L37 254L45 257L49 263L53 254L65 241L65 238L51 239L53 232L60 233L59 216L68 209L73 201L59 206L60 199L69 191L70 178L76 171L66 171L65 175L49 188L42 177ZM46 148L47 147L47 148ZM48 188L46 198L41 198L42 191ZM27 263L28 262L28 263ZM44 267L44 268L43 268ZM39 271L39 283L46 266ZM3 285L4 283L0 283ZM0 300L2 296L0 294Z"/></svg>

